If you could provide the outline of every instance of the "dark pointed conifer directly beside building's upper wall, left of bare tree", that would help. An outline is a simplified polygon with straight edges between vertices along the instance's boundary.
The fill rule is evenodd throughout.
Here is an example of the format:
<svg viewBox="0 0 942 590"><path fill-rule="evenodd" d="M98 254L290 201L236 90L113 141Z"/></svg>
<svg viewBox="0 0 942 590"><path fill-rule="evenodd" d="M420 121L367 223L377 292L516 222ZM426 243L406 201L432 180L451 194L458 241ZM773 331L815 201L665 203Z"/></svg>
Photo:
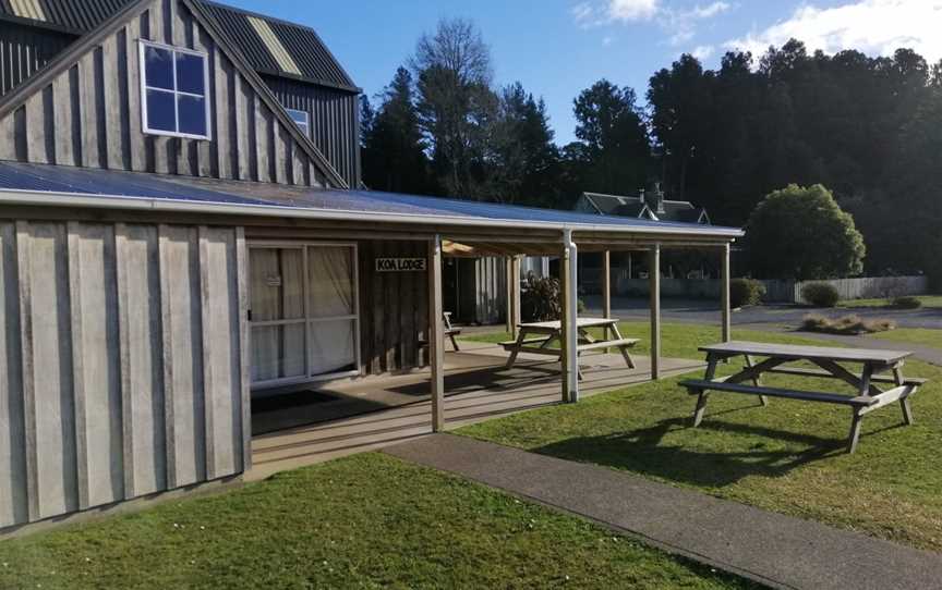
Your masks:
<svg viewBox="0 0 942 590"><path fill-rule="evenodd" d="M381 95L375 113L364 107L363 182L373 189L398 193L434 192L428 158L419 125L412 74L399 67ZM369 106L369 101L365 103Z"/></svg>

